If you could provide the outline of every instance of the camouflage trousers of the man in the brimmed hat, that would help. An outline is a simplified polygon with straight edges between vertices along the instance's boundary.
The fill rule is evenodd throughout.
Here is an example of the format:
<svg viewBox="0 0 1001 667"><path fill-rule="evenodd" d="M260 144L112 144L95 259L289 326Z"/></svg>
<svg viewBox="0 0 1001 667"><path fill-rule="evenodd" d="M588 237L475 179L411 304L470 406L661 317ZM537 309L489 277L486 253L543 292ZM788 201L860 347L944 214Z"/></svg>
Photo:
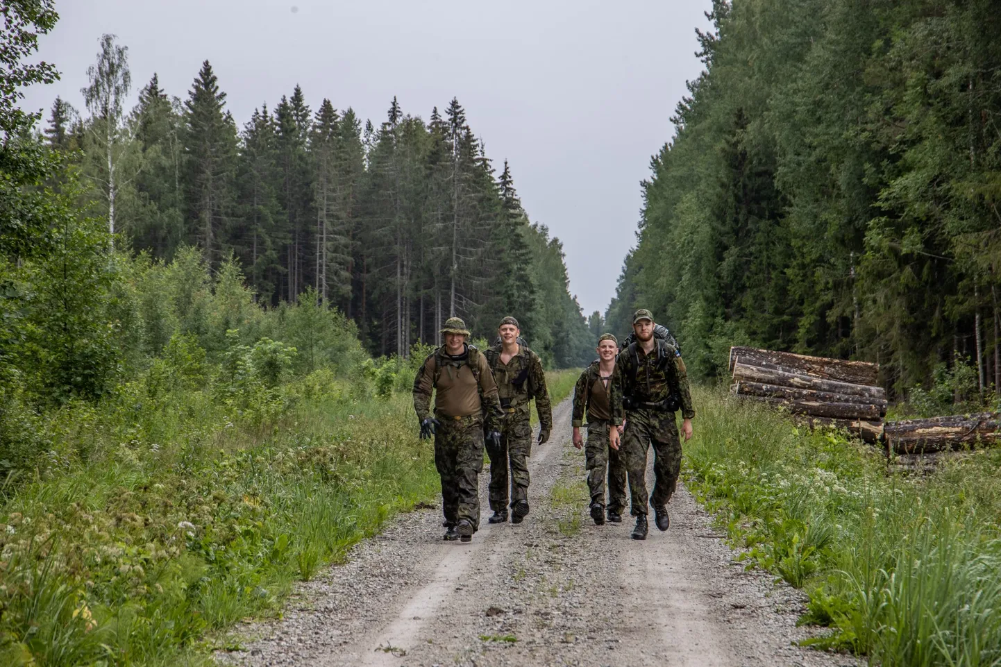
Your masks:
<svg viewBox="0 0 1001 667"><path fill-rule="evenodd" d="M436 416L434 467L441 478L444 520L455 525L466 519L479 527L479 473L483 470L483 422L478 415L458 420Z"/></svg>

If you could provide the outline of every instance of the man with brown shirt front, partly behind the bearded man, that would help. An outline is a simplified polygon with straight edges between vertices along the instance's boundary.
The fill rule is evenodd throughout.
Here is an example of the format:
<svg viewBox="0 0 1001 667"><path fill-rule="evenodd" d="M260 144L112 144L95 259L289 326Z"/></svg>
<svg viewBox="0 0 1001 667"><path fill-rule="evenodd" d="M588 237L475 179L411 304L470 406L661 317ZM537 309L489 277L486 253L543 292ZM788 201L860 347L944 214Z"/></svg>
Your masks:
<svg viewBox="0 0 1001 667"><path fill-rule="evenodd" d="M588 488L591 491L591 518L596 526L605 524L605 470L609 474L609 521L622 523L626 507L626 469L619 450L609 446L612 424L610 400L619 342L611 333L598 340L598 359L581 374L574 388L574 447L581 449L581 426L588 411ZM619 427L621 430L622 427Z"/></svg>

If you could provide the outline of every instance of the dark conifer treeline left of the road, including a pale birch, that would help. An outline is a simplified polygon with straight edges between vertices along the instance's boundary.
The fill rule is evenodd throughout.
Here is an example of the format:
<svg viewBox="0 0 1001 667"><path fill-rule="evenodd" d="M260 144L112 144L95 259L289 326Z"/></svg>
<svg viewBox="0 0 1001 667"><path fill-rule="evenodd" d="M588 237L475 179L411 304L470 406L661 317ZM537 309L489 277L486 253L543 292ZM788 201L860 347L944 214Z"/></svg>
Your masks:
<svg viewBox="0 0 1001 667"><path fill-rule="evenodd" d="M169 260L194 245L213 269L235 257L265 304L312 287L376 355L435 343L452 313L477 336L515 314L549 365L590 361L560 241L530 223L458 100L425 122L393 98L373 125L329 99L314 111L295 86L238 127L207 61L186 99L153 75L131 111L113 36L88 74L87 116L57 99L45 138L133 250Z"/></svg>

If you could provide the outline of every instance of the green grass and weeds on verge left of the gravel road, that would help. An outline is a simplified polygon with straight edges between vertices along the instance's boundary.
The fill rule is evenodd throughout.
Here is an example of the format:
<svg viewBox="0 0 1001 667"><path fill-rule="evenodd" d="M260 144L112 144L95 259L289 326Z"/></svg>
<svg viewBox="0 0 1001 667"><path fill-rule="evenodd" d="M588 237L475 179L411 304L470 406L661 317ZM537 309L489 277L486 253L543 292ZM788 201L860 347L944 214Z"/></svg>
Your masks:
<svg viewBox="0 0 1001 667"><path fill-rule="evenodd" d="M219 630L278 613L293 581L434 502L408 392L416 356L350 379L248 379L256 397L237 398L215 386L225 363L193 387L196 346L168 350L113 399L36 425L48 453L0 510L0 664L207 662ZM551 375L554 402L575 379Z"/></svg>

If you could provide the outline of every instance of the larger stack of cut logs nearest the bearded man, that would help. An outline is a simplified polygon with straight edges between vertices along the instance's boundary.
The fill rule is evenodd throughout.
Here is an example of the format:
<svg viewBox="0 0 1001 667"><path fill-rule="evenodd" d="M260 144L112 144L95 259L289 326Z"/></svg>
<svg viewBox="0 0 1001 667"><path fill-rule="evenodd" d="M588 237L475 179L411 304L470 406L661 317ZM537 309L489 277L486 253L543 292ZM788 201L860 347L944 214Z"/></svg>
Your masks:
<svg viewBox="0 0 1001 667"><path fill-rule="evenodd" d="M811 426L847 429L875 443L883 434L886 392L879 365L755 348L730 349L731 392L783 408Z"/></svg>

